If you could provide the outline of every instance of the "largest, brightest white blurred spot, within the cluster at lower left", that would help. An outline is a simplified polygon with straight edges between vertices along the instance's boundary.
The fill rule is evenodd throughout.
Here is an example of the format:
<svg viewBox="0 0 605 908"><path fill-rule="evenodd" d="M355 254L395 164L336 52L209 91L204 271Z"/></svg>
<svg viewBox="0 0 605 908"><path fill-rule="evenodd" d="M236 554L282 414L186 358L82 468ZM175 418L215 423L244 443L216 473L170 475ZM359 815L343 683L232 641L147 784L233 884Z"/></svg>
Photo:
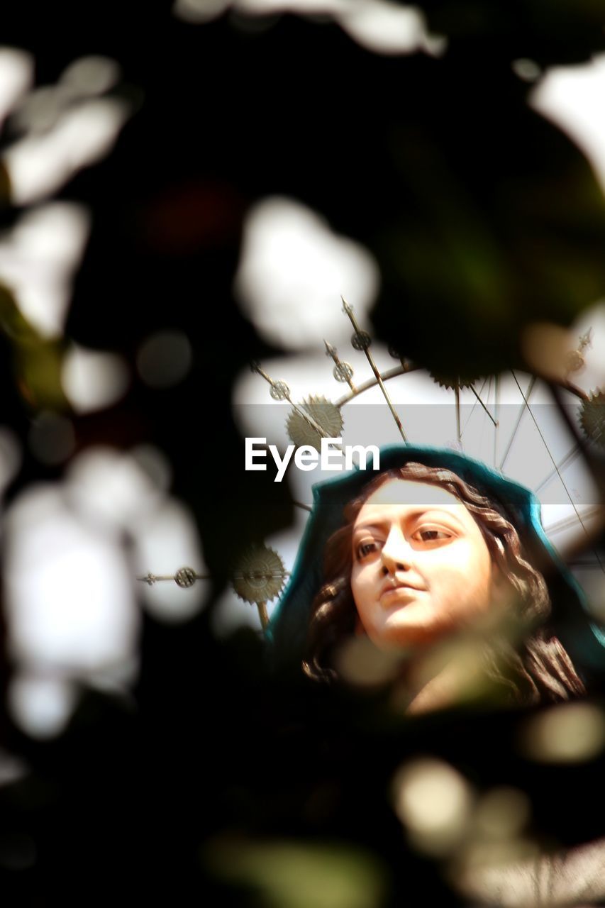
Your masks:
<svg viewBox="0 0 605 908"><path fill-rule="evenodd" d="M50 484L17 498L6 526L12 655L74 673L129 658L138 617L120 539L84 523Z"/></svg>

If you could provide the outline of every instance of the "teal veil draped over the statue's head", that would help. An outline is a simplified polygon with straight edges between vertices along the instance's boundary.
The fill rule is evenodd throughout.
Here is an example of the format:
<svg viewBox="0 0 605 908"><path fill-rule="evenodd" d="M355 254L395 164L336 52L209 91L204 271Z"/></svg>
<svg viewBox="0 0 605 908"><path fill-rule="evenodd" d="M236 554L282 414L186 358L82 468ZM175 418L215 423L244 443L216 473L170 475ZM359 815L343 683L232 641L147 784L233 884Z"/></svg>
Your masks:
<svg viewBox="0 0 605 908"><path fill-rule="evenodd" d="M539 568L549 587L552 614L549 625L587 684L605 679L605 633L590 616L586 597L541 525L540 501L517 482L506 479L479 460L456 450L416 445L392 445L380 450L380 472L408 461L449 469L490 498L517 529L530 563ZM352 469L313 487L312 513L288 586L267 631L274 666L299 665L305 651L312 601L323 583L323 552L344 525L345 505L379 475L372 469Z"/></svg>

